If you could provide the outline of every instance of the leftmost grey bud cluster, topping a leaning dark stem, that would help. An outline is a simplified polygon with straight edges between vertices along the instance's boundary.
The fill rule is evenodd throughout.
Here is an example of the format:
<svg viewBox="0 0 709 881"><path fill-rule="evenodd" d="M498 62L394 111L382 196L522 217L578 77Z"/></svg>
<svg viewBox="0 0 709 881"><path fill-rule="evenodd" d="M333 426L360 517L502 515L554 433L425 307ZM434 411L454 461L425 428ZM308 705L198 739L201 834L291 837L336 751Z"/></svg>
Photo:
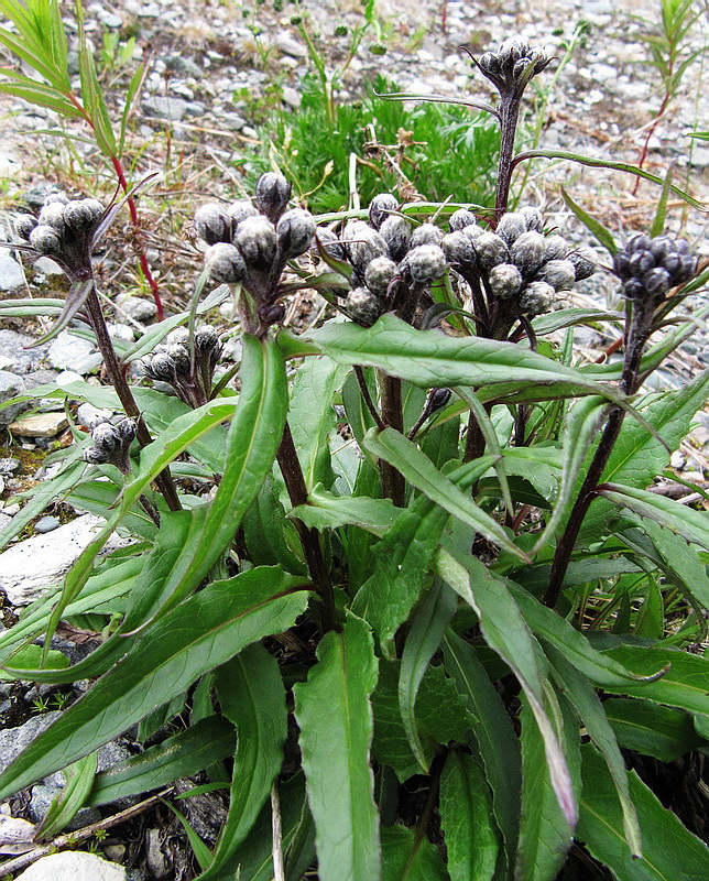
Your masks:
<svg viewBox="0 0 709 881"><path fill-rule="evenodd" d="M39 254L55 260L72 281L84 280L91 273L94 233L105 214L97 199L68 199L62 193L54 193L47 197L39 218L22 215L15 221L15 229Z"/></svg>

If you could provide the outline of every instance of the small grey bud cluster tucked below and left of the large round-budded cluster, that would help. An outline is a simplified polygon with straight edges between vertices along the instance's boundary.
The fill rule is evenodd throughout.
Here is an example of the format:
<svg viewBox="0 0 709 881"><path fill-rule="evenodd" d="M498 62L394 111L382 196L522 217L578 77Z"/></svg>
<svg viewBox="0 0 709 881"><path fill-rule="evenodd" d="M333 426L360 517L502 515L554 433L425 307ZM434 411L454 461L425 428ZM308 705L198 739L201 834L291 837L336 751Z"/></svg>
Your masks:
<svg viewBox="0 0 709 881"><path fill-rule="evenodd" d="M143 358L141 365L149 379L172 385L181 401L197 407L211 398L214 372L221 351L214 327L197 327L194 346L189 331L178 327L167 334L165 341Z"/></svg>

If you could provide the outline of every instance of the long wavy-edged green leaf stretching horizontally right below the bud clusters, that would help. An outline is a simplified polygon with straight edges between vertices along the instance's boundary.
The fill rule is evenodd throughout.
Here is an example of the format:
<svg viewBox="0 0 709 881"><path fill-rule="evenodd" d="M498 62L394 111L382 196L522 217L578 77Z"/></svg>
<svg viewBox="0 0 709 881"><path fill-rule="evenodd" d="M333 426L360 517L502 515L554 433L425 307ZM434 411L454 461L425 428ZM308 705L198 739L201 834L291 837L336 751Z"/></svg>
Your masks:
<svg viewBox="0 0 709 881"><path fill-rule="evenodd" d="M563 389L564 394L608 394L583 373L512 342L479 337L448 337L438 330L416 330L393 315L372 327L331 323L308 339L281 338L288 355L324 352L342 365L367 365L423 388L441 385L508 387L532 383ZM511 381L511 378L512 381Z"/></svg>

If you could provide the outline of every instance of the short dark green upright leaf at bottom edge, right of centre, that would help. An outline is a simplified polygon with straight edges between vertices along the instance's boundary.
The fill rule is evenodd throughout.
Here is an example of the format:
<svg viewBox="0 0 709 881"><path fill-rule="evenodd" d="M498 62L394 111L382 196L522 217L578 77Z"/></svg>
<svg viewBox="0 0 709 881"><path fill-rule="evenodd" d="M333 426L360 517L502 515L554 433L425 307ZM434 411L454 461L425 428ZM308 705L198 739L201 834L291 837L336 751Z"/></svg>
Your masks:
<svg viewBox="0 0 709 881"><path fill-rule="evenodd" d="M492 881L500 844L488 781L475 759L457 750L440 776L440 822L450 881Z"/></svg>

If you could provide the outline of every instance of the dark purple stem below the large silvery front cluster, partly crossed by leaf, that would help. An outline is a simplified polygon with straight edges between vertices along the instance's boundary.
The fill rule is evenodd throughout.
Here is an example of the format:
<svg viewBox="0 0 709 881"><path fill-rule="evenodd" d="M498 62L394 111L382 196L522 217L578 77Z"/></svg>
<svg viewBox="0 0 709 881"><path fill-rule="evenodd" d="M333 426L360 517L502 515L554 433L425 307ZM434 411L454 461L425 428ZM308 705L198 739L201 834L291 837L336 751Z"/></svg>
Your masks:
<svg viewBox="0 0 709 881"><path fill-rule="evenodd" d="M298 459L298 454L293 443L291 426L287 422L283 428L283 439L276 453L276 459L293 507L297 508L299 504L307 504L308 491L305 486L301 460ZM323 632L334 630L335 595L332 594L330 574L325 565L325 557L323 556L318 532L315 529L308 529L305 523L297 518L294 518L293 522L297 530L298 537L301 539L301 544L303 545L303 552L305 553L305 559L310 573L310 578L313 579L313 585L323 603L321 630Z"/></svg>

